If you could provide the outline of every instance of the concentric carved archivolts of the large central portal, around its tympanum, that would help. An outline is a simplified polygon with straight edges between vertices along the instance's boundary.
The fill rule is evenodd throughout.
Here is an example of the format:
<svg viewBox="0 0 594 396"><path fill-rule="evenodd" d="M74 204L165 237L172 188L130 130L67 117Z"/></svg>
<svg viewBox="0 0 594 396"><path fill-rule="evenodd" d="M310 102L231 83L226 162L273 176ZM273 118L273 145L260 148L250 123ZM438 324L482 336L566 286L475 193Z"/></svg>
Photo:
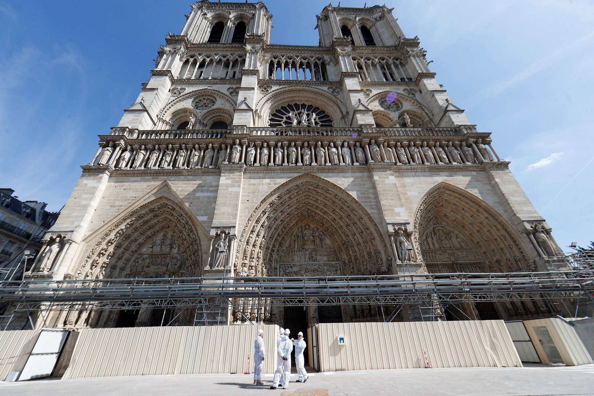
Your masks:
<svg viewBox="0 0 594 396"><path fill-rule="evenodd" d="M386 240L361 203L336 184L303 174L275 188L251 213L236 250L236 274L279 274L279 254L304 219L337 250L342 275L388 273Z"/></svg>

